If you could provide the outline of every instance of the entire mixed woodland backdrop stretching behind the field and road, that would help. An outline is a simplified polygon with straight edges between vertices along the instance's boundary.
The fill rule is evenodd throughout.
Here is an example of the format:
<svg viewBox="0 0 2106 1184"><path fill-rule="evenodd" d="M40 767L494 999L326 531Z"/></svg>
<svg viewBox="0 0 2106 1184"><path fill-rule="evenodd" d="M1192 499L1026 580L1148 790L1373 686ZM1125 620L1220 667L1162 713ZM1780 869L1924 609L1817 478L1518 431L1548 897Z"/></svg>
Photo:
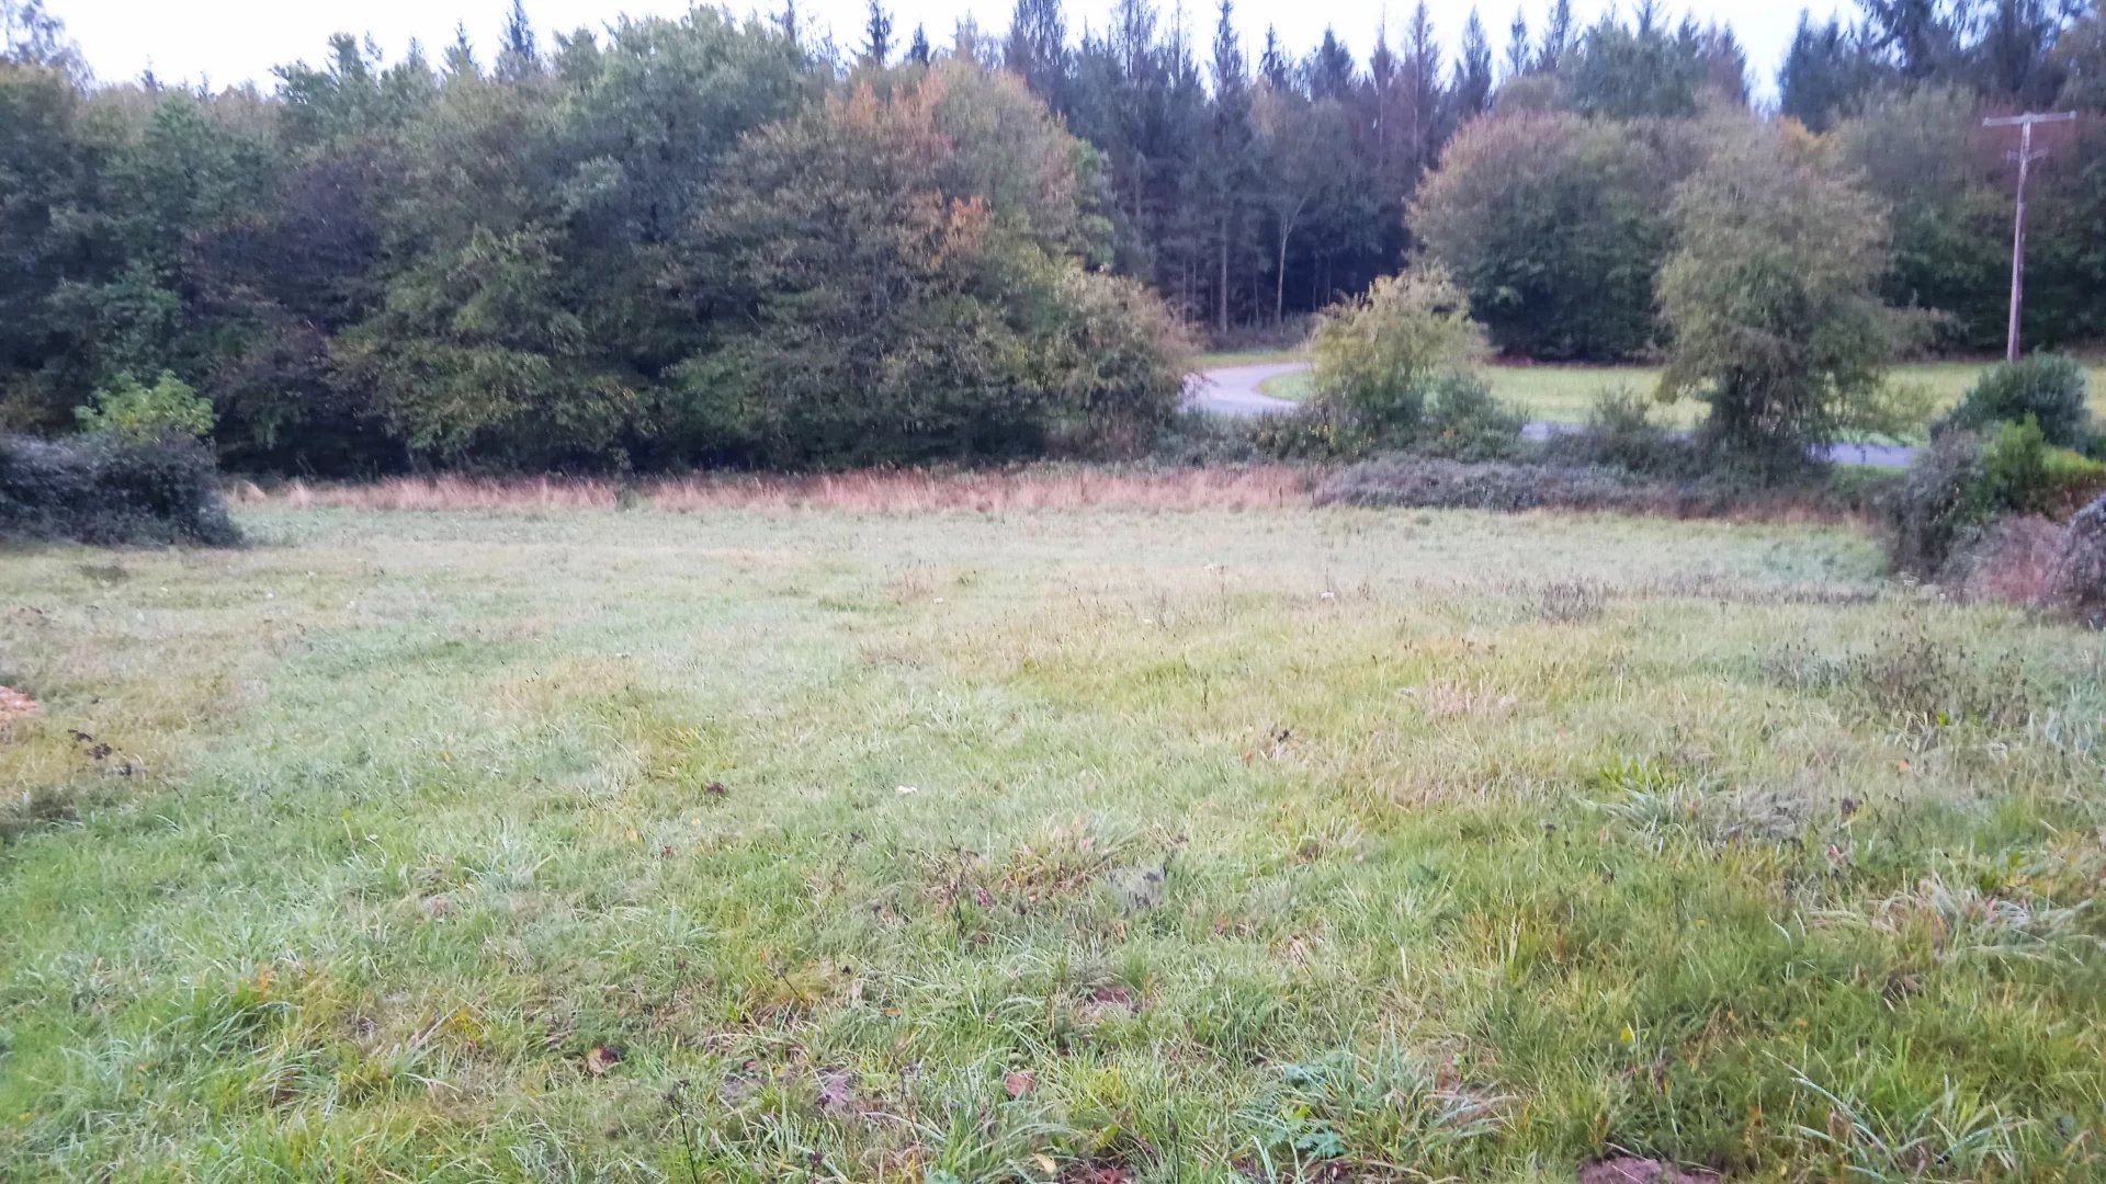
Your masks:
<svg viewBox="0 0 2106 1184"><path fill-rule="evenodd" d="M1074 27L855 48L794 6L619 19L385 61L333 38L265 93L91 84L0 0L0 428L173 375L238 466L834 463L1146 438L1179 322L1264 333L1417 253L1493 346L1657 354L1674 192L1756 120L1733 29L1569 0L1245 44L1116 0ZM1533 2L1533 0L1531 0ZM1394 36L1394 40L1392 40ZM2085 112L2032 194L2028 341L2106 335L2095 4L1864 0L1803 19L1784 118L1887 219L1883 295L2001 341L2009 147ZM160 388L156 388L160 390Z"/></svg>

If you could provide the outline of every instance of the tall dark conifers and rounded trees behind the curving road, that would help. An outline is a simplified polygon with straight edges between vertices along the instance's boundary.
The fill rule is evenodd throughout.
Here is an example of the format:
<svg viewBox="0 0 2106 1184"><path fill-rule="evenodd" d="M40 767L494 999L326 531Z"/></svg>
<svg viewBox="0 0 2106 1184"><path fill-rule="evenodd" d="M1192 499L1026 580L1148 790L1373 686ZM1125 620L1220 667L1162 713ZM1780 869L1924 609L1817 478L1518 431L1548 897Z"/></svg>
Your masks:
<svg viewBox="0 0 2106 1184"><path fill-rule="evenodd" d="M1660 0L1594 23L1552 0L1514 11L1504 44L1472 13L1443 48L1415 4L1356 59L1327 29L1306 57L1243 44L1234 0L1211 42L1120 0L1068 38L1059 0L1017 0L1000 61L1106 154L1118 268L1215 335L1354 295L1413 255L1466 280L1493 341L1529 358L1620 360L1664 346L1653 274L1702 120L1746 114L1754 84L1727 23ZM1801 15L1780 107L1832 137L1891 219L1885 295L1948 314L1940 343L2003 335L2009 147L1984 114L2106 112L2106 25L2060 0L1862 0ZM988 61L994 61L990 55ZM2055 145L2034 190L2041 343L2106 335L2106 135Z"/></svg>

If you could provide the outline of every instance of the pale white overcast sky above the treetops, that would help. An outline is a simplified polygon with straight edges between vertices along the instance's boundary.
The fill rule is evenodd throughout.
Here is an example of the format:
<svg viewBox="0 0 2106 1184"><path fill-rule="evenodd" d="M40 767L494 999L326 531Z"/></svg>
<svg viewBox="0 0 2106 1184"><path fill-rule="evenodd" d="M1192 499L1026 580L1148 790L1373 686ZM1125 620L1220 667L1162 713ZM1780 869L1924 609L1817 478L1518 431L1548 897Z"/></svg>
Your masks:
<svg viewBox="0 0 2106 1184"><path fill-rule="evenodd" d="M1544 8L1550 0L1523 0L1529 25L1542 27ZM1592 19L1611 0L1575 0L1573 11L1582 19ZM1839 0L1807 0L1817 13L1834 11ZM941 44L950 38L958 17L973 15L981 27L1000 32L1009 27L1013 0L887 0L893 11L893 29L903 44L916 23L929 27L929 40ZM1165 0L1165 11L1175 0ZM1215 0L1188 0L1188 17L1207 34L1213 29ZM1308 51L1323 36L1325 25L1337 27L1354 57L1365 61L1373 44L1375 25L1388 17L1390 42L1398 42L1398 29L1411 11L1413 0L1238 0L1236 15L1245 34L1245 48L1255 55L1264 42L1266 25L1276 25L1280 38L1295 53ZM735 13L754 8L752 0L731 4ZM760 0L760 6L775 8L779 0ZM1455 51L1455 34L1470 15L1472 0L1430 0L1434 29L1447 46ZM61 17L80 42L88 65L103 80L135 78L152 67L164 80L208 78L213 86L240 80L272 84L270 70L286 61L320 61L324 38L335 32L373 34L390 61L402 53L411 38L421 38L434 53L453 40L453 27L468 23L476 44L486 46L497 40L497 29L510 0L48 0L48 11ZM689 8L687 0L526 0L526 15L535 27L575 29L579 25L600 27L617 13L678 15ZM1676 11L1668 0L1666 8ZM1754 72L1759 93L1773 91L1777 63L1792 38L1801 0L1691 0L1689 11L1700 21L1731 21L1742 44L1748 46L1748 61ZM798 0L809 27L832 25L845 44L861 40L866 0ZM1070 0L1068 29L1078 34L1082 23L1101 27L1110 11L1110 0ZM1628 4L1626 4L1628 11ZM1512 0L1487 0L1485 25L1491 32L1493 48L1504 51L1506 27L1514 19Z"/></svg>

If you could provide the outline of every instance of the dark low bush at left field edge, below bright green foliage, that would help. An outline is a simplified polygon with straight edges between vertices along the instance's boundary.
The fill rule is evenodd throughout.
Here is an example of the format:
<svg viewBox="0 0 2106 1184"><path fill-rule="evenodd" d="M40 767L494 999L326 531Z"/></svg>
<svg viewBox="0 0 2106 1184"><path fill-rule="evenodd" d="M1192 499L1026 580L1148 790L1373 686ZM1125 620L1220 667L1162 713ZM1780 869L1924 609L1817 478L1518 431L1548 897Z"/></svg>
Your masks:
<svg viewBox="0 0 2106 1184"><path fill-rule="evenodd" d="M232 546L240 533L198 440L0 436L0 539Z"/></svg>

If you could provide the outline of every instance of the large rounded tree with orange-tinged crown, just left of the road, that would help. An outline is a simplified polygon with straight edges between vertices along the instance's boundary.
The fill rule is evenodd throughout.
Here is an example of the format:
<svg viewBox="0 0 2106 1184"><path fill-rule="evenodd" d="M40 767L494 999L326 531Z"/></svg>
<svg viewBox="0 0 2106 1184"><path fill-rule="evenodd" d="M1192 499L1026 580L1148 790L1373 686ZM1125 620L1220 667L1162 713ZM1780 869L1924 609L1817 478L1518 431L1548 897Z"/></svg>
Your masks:
<svg viewBox="0 0 2106 1184"><path fill-rule="evenodd" d="M857 84L741 141L672 265L710 331L668 371L668 451L786 468L1146 453L1188 341L1160 297L1076 255L1076 141L977 70Z"/></svg>

